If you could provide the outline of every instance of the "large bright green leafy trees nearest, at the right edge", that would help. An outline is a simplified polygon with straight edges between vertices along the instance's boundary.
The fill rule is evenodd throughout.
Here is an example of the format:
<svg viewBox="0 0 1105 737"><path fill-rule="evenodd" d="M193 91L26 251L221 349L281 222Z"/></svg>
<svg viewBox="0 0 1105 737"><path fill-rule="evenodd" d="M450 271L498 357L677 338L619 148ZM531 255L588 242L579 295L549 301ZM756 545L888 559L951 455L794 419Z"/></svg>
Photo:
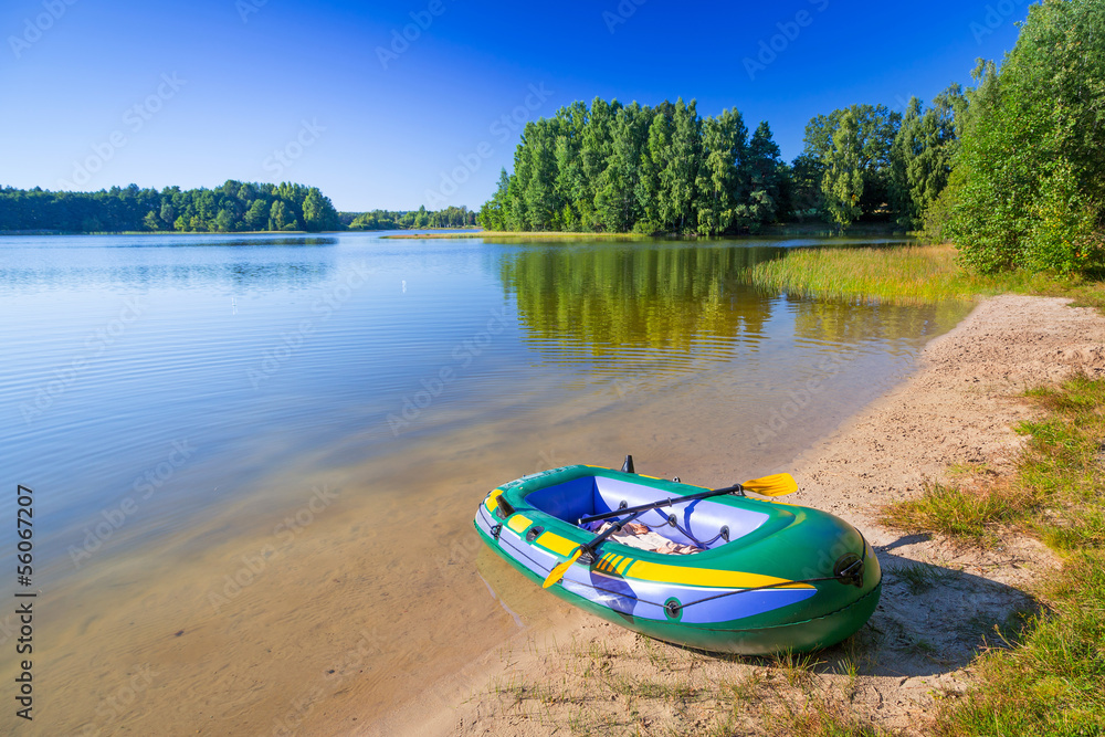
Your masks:
<svg viewBox="0 0 1105 737"><path fill-rule="evenodd" d="M1030 7L1000 73L979 63L947 230L969 267L1105 266L1105 3Z"/></svg>

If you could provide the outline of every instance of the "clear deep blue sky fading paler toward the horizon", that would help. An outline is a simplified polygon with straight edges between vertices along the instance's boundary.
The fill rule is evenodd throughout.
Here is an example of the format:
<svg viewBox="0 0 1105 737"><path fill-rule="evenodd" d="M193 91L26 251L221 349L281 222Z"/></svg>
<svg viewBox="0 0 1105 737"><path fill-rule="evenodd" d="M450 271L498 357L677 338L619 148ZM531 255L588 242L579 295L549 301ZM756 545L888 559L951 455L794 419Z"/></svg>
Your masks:
<svg viewBox="0 0 1105 737"><path fill-rule="evenodd" d="M4 0L0 185L291 180L339 210L478 208L513 161L503 116L596 96L735 106L789 160L818 113L967 83L1027 14L1023 0ZM417 38L392 45L408 25Z"/></svg>

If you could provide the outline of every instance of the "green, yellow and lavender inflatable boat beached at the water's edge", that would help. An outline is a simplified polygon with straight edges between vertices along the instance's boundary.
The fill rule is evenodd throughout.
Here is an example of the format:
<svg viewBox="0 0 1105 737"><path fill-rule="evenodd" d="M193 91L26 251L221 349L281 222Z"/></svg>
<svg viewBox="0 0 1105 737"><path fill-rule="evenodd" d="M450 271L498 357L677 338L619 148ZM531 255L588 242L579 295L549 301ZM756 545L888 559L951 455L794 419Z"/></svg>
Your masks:
<svg viewBox="0 0 1105 737"><path fill-rule="evenodd" d="M573 465L503 484L476 510L476 530L561 599L699 650L818 650L875 611L878 561L842 519L745 496L739 484L704 492L628 468ZM613 525L596 531L594 518ZM609 537L629 519L698 551L664 555Z"/></svg>

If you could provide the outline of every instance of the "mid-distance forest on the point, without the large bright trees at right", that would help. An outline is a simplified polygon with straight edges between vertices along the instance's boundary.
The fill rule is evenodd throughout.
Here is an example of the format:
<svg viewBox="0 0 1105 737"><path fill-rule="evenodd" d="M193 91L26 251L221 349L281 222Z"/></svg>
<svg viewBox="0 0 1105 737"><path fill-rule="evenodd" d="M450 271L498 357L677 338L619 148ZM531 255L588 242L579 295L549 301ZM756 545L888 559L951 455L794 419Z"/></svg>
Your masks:
<svg viewBox="0 0 1105 737"><path fill-rule="evenodd" d="M944 189L967 102L958 86L905 114L853 105L814 117L806 148L781 160L767 123L749 135L736 109L702 118L695 101L656 107L596 98L527 124L490 230L718 235L780 221L919 224Z"/></svg>

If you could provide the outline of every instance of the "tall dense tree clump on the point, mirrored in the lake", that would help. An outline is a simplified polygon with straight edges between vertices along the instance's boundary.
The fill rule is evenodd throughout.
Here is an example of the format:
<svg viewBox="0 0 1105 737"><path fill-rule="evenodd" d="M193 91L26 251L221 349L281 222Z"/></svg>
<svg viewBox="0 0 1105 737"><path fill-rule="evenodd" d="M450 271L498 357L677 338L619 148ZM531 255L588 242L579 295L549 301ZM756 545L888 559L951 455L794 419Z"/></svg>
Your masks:
<svg viewBox="0 0 1105 737"><path fill-rule="evenodd" d="M488 230L669 232L755 230L789 209L771 128L739 112L702 118L695 101L656 107L596 98L526 124Z"/></svg>

